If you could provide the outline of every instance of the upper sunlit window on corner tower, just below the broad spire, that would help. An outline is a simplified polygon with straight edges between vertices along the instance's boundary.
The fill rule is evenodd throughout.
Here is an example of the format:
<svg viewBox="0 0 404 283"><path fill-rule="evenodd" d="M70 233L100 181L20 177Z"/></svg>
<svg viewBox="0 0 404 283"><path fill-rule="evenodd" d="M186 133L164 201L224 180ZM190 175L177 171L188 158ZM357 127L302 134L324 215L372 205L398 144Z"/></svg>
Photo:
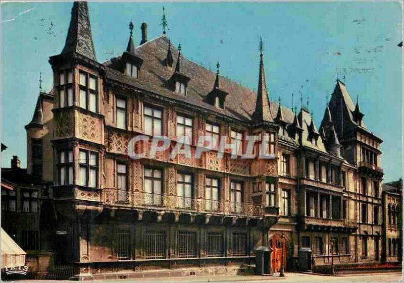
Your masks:
<svg viewBox="0 0 404 283"><path fill-rule="evenodd" d="M98 111L98 78L80 71L80 107L92 112Z"/></svg>

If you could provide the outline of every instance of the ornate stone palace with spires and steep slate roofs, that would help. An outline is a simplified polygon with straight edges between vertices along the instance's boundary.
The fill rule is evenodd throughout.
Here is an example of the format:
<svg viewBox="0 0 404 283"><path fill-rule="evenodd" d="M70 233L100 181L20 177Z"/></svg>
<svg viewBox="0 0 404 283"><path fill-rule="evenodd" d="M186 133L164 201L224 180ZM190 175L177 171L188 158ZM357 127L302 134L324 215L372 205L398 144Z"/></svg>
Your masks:
<svg viewBox="0 0 404 283"><path fill-rule="evenodd" d="M304 248L316 267L382 260L382 140L344 83L318 126L308 107L271 99L262 51L257 92L222 77L219 64L211 72L187 60L165 32L148 40L145 23L139 45L130 23L122 55L101 63L88 13L74 2L65 46L49 59L53 91L26 127L27 172L53 182L55 265L74 265L77 278L235 273L260 246L272 248L274 272L282 255L286 270L302 268ZM132 159L139 135L150 141ZM248 135L260 137L256 156L241 158ZM199 137L225 137L238 157L214 147L152 158L154 136L170 148L186 136L192 154ZM53 162L33 160L35 146ZM259 158L262 146L275 158Z"/></svg>

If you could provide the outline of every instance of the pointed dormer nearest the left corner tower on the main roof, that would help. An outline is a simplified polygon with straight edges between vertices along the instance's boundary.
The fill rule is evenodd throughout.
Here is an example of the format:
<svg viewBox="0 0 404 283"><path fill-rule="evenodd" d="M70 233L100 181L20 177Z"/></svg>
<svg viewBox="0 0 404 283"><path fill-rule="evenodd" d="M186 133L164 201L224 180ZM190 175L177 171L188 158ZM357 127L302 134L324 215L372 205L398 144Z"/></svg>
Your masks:
<svg viewBox="0 0 404 283"><path fill-rule="evenodd" d="M121 56L121 70L122 72L132 78L140 78L140 68L143 64L143 59L136 54L135 45L133 42L133 23L129 24L130 37L126 51Z"/></svg>

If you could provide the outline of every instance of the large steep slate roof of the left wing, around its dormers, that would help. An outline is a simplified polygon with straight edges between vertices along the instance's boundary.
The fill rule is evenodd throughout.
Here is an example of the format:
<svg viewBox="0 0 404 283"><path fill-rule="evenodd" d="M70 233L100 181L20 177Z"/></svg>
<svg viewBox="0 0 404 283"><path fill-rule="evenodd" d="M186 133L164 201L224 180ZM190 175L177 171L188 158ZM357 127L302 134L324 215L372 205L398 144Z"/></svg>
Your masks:
<svg viewBox="0 0 404 283"><path fill-rule="evenodd" d="M190 61L181 53L181 73L189 77L187 96L174 93L167 85L174 70L165 67L169 40L164 35L137 46L136 54L143 58L140 79L125 76L114 69L114 63L120 57L104 62L106 77L108 80L118 81L134 88L157 93L177 101L183 101L197 107L203 107L233 119L249 122L252 112L255 110L256 93L237 84L223 76L220 76L220 88L229 95L226 97L225 109L217 108L204 99L212 91L215 84L216 73ZM170 45L174 62L178 61L178 49ZM272 108L272 103L271 103ZM276 111L276 108L275 108ZM293 119L293 117L292 117Z"/></svg>

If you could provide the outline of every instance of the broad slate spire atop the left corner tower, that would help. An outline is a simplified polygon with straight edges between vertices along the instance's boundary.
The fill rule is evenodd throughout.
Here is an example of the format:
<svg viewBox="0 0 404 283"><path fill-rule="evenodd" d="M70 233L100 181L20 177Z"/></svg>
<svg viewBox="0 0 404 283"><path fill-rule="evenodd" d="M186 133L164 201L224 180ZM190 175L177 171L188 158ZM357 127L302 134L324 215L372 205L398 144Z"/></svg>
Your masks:
<svg viewBox="0 0 404 283"><path fill-rule="evenodd" d="M74 2L63 53L76 52L96 61L87 2Z"/></svg>

